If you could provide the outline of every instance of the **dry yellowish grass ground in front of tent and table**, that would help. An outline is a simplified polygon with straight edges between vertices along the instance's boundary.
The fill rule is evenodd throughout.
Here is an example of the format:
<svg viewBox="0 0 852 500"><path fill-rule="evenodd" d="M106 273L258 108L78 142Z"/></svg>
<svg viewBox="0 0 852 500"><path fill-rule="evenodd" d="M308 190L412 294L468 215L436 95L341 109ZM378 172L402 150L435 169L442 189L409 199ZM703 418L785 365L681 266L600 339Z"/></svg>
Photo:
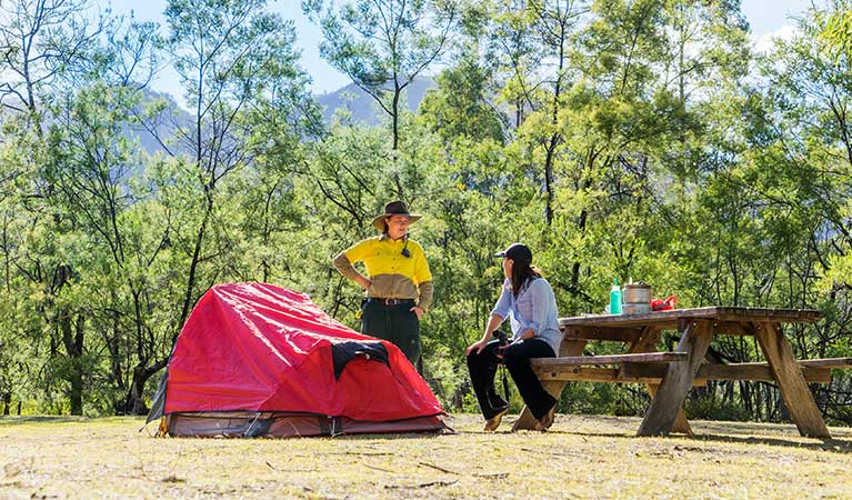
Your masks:
<svg viewBox="0 0 852 500"><path fill-rule="evenodd" d="M136 418L0 419L0 498L852 498L852 429L559 416L547 433L156 439Z"/></svg>

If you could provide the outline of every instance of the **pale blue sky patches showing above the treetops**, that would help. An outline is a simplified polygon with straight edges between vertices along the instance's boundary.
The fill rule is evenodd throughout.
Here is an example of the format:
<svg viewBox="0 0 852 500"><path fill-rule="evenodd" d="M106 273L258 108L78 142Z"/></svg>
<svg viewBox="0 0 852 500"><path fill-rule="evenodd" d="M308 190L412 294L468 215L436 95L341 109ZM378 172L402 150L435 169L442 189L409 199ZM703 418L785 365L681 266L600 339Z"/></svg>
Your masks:
<svg viewBox="0 0 852 500"><path fill-rule="evenodd" d="M106 6L108 1L98 0L101 6ZM114 0L112 9L121 14L133 11L137 19L154 20L164 24L162 11L166 3L167 0ZM818 6L823 3L824 0L816 0ZM332 92L349 83L345 76L337 72L320 58L320 31L302 14L301 1L270 0L269 6L284 19L295 21L297 46L302 51L301 66L311 76L314 92ZM742 0L742 11L751 24L755 40L776 32L784 26L794 24L790 17L798 16L810 7L811 0ZM172 94L180 91L174 77L170 77L168 72L161 74L154 88Z"/></svg>

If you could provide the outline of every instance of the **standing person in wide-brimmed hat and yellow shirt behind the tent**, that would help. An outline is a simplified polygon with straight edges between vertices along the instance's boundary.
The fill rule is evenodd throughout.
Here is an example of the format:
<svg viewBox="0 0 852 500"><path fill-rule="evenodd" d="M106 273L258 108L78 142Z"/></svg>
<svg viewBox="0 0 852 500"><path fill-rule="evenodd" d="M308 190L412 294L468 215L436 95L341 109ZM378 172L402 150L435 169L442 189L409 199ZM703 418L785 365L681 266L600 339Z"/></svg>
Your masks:
<svg viewBox="0 0 852 500"><path fill-rule="evenodd" d="M409 239L422 216L391 201L375 216L378 237L359 241L333 260L341 274L364 289L361 333L393 342L420 370L420 319L432 304L432 274L423 248ZM363 262L367 277L352 266Z"/></svg>

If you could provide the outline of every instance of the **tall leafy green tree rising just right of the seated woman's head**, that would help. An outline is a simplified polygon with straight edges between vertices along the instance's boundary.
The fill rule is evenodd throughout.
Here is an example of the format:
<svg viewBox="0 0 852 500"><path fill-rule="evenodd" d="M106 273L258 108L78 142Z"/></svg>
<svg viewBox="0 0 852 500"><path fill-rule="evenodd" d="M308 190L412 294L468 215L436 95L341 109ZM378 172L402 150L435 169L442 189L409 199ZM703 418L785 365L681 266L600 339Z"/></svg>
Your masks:
<svg viewBox="0 0 852 500"><path fill-rule="evenodd" d="M618 232L605 229L608 213L618 209L617 203L608 202L611 192L621 192L608 181L620 167L622 151L615 149L627 149L632 140L622 132L653 132L630 126L638 118L631 113L640 111L652 94L646 76L661 53L663 7L650 1L504 6L492 50L505 61L510 77L504 96L523 109L512 148L541 186L542 194L535 201L541 202L544 222L542 243L560 248L555 253L562 256L562 262L552 282L567 292L569 308L588 310L597 292L585 290L583 278L601 278L592 276L594 261L601 257L595 253L615 243L617 258L608 260L624 260ZM620 121L629 126L621 128ZM588 240L590 222L594 223L593 239L605 241Z"/></svg>

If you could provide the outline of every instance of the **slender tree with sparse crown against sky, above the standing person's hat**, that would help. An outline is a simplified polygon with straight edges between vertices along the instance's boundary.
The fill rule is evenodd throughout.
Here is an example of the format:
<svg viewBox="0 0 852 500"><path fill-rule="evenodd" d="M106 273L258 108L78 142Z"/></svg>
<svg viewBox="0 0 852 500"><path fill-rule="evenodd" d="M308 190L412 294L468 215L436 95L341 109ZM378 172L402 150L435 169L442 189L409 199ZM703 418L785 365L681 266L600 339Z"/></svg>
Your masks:
<svg viewBox="0 0 852 500"><path fill-rule="evenodd" d="M457 0L304 0L323 33L320 53L367 92L391 120L392 154L400 147L403 91L440 61L459 17ZM398 182L398 194L403 189Z"/></svg>

